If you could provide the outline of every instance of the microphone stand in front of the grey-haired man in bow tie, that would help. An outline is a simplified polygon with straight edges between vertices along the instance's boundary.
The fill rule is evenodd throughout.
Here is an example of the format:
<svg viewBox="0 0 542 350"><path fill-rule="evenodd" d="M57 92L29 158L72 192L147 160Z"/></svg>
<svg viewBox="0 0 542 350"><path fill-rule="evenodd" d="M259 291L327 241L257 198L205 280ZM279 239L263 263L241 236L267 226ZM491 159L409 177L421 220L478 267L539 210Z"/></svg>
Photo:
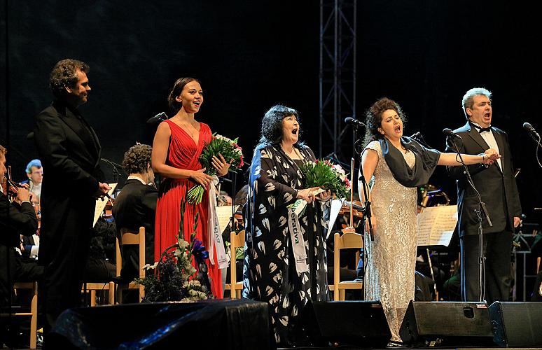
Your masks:
<svg viewBox="0 0 542 350"><path fill-rule="evenodd" d="M480 269L478 272L478 288L479 288L478 301L483 302L485 301L485 253L484 253L484 236L483 236L483 229L482 229L482 215L485 216L489 227L492 227L493 224L491 222L491 219L489 218L489 214L487 213L485 203L482 202L482 197L480 197L480 193L474 186L473 179L471 178L471 173L468 172L468 167L463 161L463 158L461 157L461 153L459 152L459 147L455 143L455 140L453 137L447 137L447 139L450 140L450 143L454 146L454 149L457 155L459 156L459 160L461 160L461 164L463 165L463 168L464 168L463 174L465 174L468 184L471 185L476 195L476 198L478 199L478 209L474 209L476 216L478 216L478 264L479 264L479 269Z"/></svg>

